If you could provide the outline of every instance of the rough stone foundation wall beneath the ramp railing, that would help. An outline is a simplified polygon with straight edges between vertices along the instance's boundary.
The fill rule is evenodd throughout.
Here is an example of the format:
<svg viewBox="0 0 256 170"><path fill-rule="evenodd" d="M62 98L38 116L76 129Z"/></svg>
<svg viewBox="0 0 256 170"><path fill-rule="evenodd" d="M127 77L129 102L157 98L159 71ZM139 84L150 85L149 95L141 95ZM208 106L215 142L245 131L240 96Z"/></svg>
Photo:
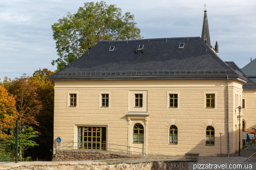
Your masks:
<svg viewBox="0 0 256 170"><path fill-rule="evenodd" d="M80 151L80 150L60 150L52 157L52 161L84 161L101 160L114 158L137 158L139 156L125 155L104 151Z"/></svg>

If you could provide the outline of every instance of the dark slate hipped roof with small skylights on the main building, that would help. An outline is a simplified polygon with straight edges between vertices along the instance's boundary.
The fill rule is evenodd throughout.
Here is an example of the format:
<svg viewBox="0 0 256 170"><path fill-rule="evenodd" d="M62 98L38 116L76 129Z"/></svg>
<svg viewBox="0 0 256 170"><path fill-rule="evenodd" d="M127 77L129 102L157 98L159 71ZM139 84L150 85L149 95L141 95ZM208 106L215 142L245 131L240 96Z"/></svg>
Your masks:
<svg viewBox="0 0 256 170"><path fill-rule="evenodd" d="M180 43L184 48L179 48ZM144 45L144 53L136 48ZM115 46L114 51L109 51ZM91 50L49 77L51 80L238 78L200 37L100 41ZM95 79L97 77L97 79ZM116 78L114 78L116 77ZM151 78L149 78L151 77ZM160 78L161 77L161 78ZM165 77L165 78L164 78ZM172 77L172 78L170 78ZM215 78L214 78L215 77ZM224 78L223 78L224 79Z"/></svg>

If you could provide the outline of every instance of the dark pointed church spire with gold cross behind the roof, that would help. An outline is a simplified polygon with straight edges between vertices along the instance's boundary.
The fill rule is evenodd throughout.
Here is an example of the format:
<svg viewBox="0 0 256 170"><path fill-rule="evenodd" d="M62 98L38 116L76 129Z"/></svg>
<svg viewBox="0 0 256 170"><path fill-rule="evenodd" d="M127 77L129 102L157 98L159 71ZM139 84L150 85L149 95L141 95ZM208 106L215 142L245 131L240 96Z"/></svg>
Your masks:
<svg viewBox="0 0 256 170"><path fill-rule="evenodd" d="M204 21L203 21L203 30L202 30L202 36L201 38L203 41L211 48L212 51L214 51L217 55L219 54L219 45L216 41L215 48L213 48L210 44L210 33L209 33L209 26L208 26L208 19L207 19L207 13L206 13L206 4L204 4Z"/></svg>

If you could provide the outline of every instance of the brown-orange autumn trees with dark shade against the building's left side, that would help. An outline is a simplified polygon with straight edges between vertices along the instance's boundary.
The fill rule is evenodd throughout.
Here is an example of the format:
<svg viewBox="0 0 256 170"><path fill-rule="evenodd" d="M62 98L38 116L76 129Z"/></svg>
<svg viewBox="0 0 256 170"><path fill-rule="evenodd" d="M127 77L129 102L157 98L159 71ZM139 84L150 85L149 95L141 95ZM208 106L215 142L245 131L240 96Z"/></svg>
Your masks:
<svg viewBox="0 0 256 170"><path fill-rule="evenodd" d="M15 96L13 109L18 113L19 129L25 125L34 130L30 132L31 129L27 129L31 141L26 148L27 155L33 159L50 160L52 155L54 82L48 79L52 74L53 71L44 68L36 70L33 76L24 74L13 80L6 77L2 83Z"/></svg>

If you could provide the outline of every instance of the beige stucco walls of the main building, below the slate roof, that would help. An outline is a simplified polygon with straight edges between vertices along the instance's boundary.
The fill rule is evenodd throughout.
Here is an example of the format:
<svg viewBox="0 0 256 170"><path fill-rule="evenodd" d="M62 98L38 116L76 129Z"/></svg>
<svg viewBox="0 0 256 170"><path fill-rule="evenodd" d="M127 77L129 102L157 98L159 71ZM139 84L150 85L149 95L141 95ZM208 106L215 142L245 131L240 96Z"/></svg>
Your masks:
<svg viewBox="0 0 256 170"><path fill-rule="evenodd" d="M235 101L242 91L242 83L229 80L230 154L238 150L233 140L238 126ZM67 103L71 93L77 95L76 107ZM136 93L143 94L141 108L134 107ZM206 108L207 93L215 94L215 108ZM101 94L109 94L109 107L101 107ZM169 94L178 94L177 108L168 107ZM146 154L216 156L221 132L222 152L227 154L226 117L227 80L55 81L54 139L62 141L78 142L78 127L105 127L106 143L145 148ZM133 142L137 123L144 127L143 143ZM172 125L178 129L177 143L169 143ZM215 129L213 145L205 141L208 126Z"/></svg>

